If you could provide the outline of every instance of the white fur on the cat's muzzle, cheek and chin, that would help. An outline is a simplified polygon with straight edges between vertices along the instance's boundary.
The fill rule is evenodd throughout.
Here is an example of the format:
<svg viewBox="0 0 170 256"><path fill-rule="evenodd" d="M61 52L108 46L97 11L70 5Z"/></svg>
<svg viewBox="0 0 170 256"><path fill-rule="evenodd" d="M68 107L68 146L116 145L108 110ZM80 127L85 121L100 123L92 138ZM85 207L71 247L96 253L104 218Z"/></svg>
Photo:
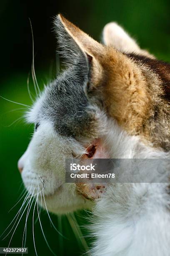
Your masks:
<svg viewBox="0 0 170 256"><path fill-rule="evenodd" d="M74 142L72 144L75 145ZM65 183L65 159L71 157L70 141L56 135L50 123L44 121L20 159L24 167L22 178L25 187L36 194L37 182L41 189L43 187L42 179L47 208L57 214L90 207L90 202L75 191L75 184Z"/></svg>

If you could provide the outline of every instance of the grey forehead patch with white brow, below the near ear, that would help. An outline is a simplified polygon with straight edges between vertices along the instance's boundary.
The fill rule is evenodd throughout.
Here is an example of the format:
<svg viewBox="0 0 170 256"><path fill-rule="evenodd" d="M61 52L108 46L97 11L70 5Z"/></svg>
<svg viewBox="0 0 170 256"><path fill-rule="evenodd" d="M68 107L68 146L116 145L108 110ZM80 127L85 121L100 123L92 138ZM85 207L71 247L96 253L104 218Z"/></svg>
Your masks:
<svg viewBox="0 0 170 256"><path fill-rule="evenodd" d="M79 73L79 74L77 74ZM61 135L77 136L92 121L89 102L84 92L86 82L80 70L67 70L60 74L42 92L27 114L28 122L51 122Z"/></svg>

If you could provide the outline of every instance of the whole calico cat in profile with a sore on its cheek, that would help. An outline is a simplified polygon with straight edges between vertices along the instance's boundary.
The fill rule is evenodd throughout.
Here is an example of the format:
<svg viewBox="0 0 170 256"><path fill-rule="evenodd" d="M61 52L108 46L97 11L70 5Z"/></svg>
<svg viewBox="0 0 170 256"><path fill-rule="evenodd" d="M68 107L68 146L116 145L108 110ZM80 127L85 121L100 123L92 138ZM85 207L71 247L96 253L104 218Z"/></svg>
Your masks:
<svg viewBox="0 0 170 256"><path fill-rule="evenodd" d="M43 192L42 206L55 214L92 209L90 255L168 256L169 169L166 182L160 176L151 183L143 168L148 183L127 179L100 193L94 185L65 183L65 160L169 159L170 64L114 22L104 27L102 44L62 15L55 31L67 68L26 114L35 124L18 162L26 189L39 204Z"/></svg>

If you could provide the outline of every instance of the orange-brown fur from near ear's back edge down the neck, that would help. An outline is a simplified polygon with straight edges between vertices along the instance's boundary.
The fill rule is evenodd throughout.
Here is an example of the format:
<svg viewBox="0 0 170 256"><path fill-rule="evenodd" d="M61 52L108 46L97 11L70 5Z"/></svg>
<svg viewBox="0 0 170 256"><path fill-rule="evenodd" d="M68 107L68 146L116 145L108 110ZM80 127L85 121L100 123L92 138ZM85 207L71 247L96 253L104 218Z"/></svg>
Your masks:
<svg viewBox="0 0 170 256"><path fill-rule="evenodd" d="M159 74L147 64L111 46L99 44L62 15L60 20L84 54L92 56L89 91L91 95L102 97L107 114L129 134L139 135L145 143L165 150L170 148L170 105L163 99L163 81ZM155 61L153 56L150 61ZM160 71L170 81L170 69L169 73L165 72L162 64ZM162 113L158 122L153 118L155 106L159 109L157 112ZM161 122L166 125L156 129L155 125Z"/></svg>

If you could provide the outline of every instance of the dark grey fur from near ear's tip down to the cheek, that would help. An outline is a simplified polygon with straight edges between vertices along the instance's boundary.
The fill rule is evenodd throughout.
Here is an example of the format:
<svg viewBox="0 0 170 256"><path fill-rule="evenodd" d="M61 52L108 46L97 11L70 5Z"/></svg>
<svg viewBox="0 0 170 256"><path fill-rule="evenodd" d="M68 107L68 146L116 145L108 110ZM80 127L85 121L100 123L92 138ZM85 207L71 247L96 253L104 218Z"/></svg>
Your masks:
<svg viewBox="0 0 170 256"><path fill-rule="evenodd" d="M94 123L94 110L90 110L84 92L88 82L89 65L75 41L55 19L60 55L67 69L45 91L39 112L40 119L52 121L55 130L62 136L88 136Z"/></svg>

